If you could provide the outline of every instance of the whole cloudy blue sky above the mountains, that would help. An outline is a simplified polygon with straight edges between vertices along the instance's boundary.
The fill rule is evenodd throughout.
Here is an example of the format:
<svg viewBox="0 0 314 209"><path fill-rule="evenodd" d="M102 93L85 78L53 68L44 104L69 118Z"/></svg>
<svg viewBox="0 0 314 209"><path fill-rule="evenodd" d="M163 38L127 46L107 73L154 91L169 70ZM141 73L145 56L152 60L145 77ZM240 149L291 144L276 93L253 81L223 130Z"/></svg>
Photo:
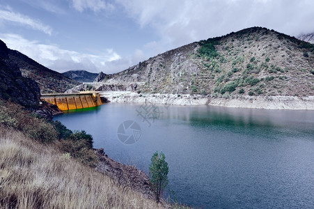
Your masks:
<svg viewBox="0 0 314 209"><path fill-rule="evenodd" d="M120 72L251 26L313 33L314 0L0 0L0 39L58 72Z"/></svg>

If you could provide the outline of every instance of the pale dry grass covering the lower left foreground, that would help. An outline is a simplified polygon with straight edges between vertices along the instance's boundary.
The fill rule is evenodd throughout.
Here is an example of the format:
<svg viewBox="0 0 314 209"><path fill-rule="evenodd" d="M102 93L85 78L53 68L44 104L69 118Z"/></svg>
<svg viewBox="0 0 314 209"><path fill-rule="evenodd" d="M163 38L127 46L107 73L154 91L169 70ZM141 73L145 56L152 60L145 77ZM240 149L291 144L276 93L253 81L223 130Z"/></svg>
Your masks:
<svg viewBox="0 0 314 209"><path fill-rule="evenodd" d="M55 146L0 126L1 208L163 208Z"/></svg>

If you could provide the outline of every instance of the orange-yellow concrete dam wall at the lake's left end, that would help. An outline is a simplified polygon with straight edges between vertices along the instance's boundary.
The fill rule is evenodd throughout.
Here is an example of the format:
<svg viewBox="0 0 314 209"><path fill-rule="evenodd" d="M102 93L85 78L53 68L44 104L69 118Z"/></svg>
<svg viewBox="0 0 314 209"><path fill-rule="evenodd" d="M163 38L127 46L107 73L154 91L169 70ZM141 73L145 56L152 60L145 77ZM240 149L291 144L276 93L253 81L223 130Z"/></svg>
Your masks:
<svg viewBox="0 0 314 209"><path fill-rule="evenodd" d="M99 92L46 93L40 97L51 104L56 104L62 111L97 107L102 104Z"/></svg>

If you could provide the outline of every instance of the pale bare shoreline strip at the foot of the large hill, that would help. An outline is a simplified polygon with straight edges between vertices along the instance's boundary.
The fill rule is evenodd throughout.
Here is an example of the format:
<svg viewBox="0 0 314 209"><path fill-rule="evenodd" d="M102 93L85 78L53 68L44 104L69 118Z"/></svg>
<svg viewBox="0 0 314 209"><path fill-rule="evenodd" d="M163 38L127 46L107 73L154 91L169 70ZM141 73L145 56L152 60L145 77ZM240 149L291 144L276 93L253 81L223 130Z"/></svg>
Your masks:
<svg viewBox="0 0 314 209"><path fill-rule="evenodd" d="M250 109L314 110L314 96L240 96L236 98L213 98L205 95L141 94L132 91L103 91L102 98L118 103L146 103L165 105L212 105L219 107Z"/></svg>

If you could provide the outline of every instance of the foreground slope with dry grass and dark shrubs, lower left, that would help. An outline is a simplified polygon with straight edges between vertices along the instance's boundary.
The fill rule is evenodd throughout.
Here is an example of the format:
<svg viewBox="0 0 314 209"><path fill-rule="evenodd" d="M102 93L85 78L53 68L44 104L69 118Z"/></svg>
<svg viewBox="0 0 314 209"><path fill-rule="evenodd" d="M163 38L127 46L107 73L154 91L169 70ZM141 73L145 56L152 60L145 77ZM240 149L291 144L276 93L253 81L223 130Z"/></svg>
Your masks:
<svg viewBox="0 0 314 209"><path fill-rule="evenodd" d="M96 171L90 144L68 134L0 100L0 208L163 208Z"/></svg>

